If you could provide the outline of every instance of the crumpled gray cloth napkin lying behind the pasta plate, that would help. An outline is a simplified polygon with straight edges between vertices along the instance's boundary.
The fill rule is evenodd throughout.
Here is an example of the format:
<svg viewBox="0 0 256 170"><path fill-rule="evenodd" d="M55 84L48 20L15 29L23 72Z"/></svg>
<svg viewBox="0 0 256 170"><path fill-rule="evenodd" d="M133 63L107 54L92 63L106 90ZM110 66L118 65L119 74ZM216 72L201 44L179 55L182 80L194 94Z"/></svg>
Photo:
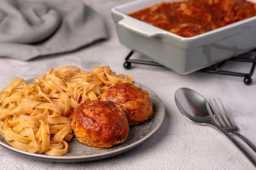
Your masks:
<svg viewBox="0 0 256 170"><path fill-rule="evenodd" d="M81 0L0 0L0 57L27 61L106 37L101 16Z"/></svg>

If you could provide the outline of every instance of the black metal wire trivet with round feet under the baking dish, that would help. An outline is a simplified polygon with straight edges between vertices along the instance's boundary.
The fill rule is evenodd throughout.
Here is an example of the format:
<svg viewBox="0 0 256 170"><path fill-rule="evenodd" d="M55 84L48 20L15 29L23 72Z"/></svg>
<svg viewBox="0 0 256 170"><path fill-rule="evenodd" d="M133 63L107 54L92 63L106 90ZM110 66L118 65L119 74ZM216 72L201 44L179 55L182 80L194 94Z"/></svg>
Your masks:
<svg viewBox="0 0 256 170"><path fill-rule="evenodd" d="M256 50L254 50L256 51ZM137 59L130 59L130 57L132 56L132 54L134 53L134 51L131 51L125 58L125 63L124 63L124 68L126 69L131 69L132 68L132 63L136 63L136 64L145 64L145 65L154 65L154 66L161 66L164 67L163 65L160 65L159 63L155 62L155 61L145 61L145 60L137 60ZM224 71L221 70L222 65L226 62L226 61L240 61L240 62L249 62L252 63L252 68L250 70L249 73L245 74L245 73L240 73L240 72L229 72L229 71ZM216 73L216 74L225 74L225 75L230 75L230 76L240 76L240 77L244 77L244 83L246 85L250 85L252 83L252 78L251 76L254 73L254 69L255 69L255 65L256 65L256 54L254 56L254 59L249 59L249 58L242 58L242 57L233 57L230 59L227 59L225 61L222 61L218 64L212 65L208 68L203 68L199 71L202 72L208 72L208 73Z"/></svg>

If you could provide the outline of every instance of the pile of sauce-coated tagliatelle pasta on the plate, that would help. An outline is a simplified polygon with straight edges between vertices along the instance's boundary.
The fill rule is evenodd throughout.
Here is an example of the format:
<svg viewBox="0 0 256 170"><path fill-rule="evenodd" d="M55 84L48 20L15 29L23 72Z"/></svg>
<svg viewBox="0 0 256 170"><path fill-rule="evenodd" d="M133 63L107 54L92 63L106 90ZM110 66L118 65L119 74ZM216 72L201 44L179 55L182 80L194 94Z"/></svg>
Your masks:
<svg viewBox="0 0 256 170"><path fill-rule="evenodd" d="M32 83L14 78L0 94L0 133L14 148L65 155L73 137L74 108L99 99L110 85L132 80L132 76L116 75L109 66L94 67L92 72L64 66Z"/></svg>

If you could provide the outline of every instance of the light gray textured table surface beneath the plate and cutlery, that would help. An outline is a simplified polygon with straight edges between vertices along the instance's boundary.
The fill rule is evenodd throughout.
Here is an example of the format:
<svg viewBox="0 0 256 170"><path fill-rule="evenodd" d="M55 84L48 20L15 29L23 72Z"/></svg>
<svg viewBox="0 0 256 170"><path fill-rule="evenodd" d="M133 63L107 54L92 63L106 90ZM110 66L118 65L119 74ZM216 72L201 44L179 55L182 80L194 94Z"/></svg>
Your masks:
<svg viewBox="0 0 256 170"><path fill-rule="evenodd" d="M161 98L166 116L159 130L146 142L120 155L107 159L57 163L23 157L0 147L0 169L230 169L252 170L252 163L225 135L208 126L186 120L178 110L174 94L180 87L194 89L207 99L220 98L240 128L240 133L256 144L256 74L253 83L245 85L242 77L194 72L187 75L167 68L133 64L123 67L128 48L119 43L110 9L130 0L85 1L106 21L109 38L67 54L38 57L31 61L0 58L0 89L15 77L34 78L64 65L91 71L96 66L110 65L117 74L129 74ZM143 58L144 56L135 55ZM240 63L227 66L236 71L249 66Z"/></svg>

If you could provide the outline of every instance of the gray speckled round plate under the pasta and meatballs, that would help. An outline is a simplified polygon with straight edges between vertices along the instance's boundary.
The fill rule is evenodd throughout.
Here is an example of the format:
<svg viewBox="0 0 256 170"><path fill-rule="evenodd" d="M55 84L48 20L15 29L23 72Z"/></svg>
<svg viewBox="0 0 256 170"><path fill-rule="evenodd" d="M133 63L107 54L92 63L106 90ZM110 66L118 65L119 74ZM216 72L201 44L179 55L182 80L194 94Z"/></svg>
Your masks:
<svg viewBox="0 0 256 170"><path fill-rule="evenodd" d="M45 154L29 153L18 150L7 144L2 135L0 135L0 146L7 148L8 150L11 150L12 152L22 155L24 157L53 162L93 161L124 153L125 151L130 150L131 148L134 148L135 146L138 146L139 144L149 139L159 129L165 116L165 109L161 99L144 85L141 85L137 82L134 83L139 85L142 90L148 91L150 98L153 102L153 115L146 124L131 126L128 137L126 138L126 141L122 144L119 144L113 148L103 149L92 148L83 145L78 141L71 141L68 143L69 149L67 153L63 156L49 156Z"/></svg>

